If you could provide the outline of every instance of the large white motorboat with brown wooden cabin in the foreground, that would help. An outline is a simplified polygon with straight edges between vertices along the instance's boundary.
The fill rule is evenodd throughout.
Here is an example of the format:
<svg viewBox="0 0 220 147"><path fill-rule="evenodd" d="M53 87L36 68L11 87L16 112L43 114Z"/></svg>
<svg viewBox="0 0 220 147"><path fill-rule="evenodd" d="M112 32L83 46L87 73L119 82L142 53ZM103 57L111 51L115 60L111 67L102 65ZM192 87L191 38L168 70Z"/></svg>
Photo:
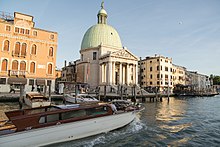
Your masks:
<svg viewBox="0 0 220 147"><path fill-rule="evenodd" d="M121 128L134 120L137 107L114 113L112 104L73 104L5 112L0 146L42 146Z"/></svg>

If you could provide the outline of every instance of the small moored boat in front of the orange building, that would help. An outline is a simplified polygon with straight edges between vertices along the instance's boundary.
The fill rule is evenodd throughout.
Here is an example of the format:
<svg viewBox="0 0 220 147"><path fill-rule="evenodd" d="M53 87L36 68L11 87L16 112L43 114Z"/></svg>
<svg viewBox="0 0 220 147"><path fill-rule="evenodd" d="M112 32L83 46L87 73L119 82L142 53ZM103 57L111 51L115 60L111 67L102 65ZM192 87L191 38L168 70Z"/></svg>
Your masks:
<svg viewBox="0 0 220 147"><path fill-rule="evenodd" d="M45 107L51 105L51 101L38 92L30 92L24 97L24 102L31 108Z"/></svg>

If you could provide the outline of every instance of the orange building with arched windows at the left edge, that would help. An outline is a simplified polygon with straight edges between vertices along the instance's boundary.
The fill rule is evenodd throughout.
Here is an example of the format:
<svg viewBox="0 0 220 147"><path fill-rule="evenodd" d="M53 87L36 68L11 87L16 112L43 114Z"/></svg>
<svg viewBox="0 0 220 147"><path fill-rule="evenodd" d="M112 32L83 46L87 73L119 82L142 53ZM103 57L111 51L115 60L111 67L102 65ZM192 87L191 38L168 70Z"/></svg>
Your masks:
<svg viewBox="0 0 220 147"><path fill-rule="evenodd" d="M10 86L25 91L55 84L57 33L35 28L33 16L14 13L0 18L0 92Z"/></svg>

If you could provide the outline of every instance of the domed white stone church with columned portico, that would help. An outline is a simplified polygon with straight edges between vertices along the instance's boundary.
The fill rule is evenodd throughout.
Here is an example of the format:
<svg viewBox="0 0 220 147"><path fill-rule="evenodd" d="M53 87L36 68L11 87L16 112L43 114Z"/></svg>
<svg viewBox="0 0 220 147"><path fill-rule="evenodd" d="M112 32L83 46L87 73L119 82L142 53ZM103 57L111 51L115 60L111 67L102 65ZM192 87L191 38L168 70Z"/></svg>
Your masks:
<svg viewBox="0 0 220 147"><path fill-rule="evenodd" d="M77 82L99 85L134 85L138 82L138 58L122 46L118 32L107 24L103 3L98 23L84 34L80 60L77 61Z"/></svg>

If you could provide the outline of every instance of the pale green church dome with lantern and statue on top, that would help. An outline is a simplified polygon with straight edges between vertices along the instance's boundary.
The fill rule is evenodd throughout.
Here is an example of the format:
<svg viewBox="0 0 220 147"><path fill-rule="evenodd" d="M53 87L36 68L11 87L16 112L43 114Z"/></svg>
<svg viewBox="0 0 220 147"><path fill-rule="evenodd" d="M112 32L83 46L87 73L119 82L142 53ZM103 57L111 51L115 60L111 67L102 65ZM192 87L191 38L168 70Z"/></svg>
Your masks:
<svg viewBox="0 0 220 147"><path fill-rule="evenodd" d="M107 12L102 2L101 10L98 12L98 24L90 27L82 40L81 50L97 47L99 45L107 45L121 48L121 39L118 32L110 25L107 25Z"/></svg>

